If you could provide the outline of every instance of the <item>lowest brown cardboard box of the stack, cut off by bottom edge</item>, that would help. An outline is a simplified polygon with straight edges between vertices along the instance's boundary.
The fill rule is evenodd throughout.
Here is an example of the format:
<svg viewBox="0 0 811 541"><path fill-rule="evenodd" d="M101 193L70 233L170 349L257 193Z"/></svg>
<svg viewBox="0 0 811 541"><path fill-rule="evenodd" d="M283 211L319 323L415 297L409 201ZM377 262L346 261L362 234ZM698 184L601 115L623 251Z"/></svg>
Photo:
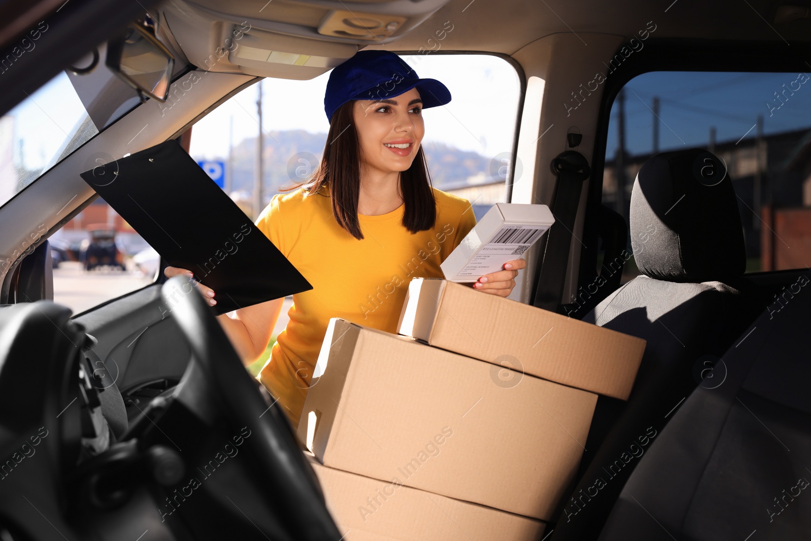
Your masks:
<svg viewBox="0 0 811 541"><path fill-rule="evenodd" d="M543 522L310 461L345 541L538 541Z"/></svg>

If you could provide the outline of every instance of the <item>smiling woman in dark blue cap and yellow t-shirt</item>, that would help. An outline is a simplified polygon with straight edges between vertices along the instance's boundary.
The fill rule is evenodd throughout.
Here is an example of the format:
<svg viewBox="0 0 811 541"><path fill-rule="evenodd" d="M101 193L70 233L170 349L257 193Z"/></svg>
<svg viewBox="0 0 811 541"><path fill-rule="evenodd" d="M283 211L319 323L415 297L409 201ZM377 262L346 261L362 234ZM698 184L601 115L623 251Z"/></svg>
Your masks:
<svg viewBox="0 0 811 541"><path fill-rule="evenodd" d="M275 195L256 225L310 281L293 295L290 322L259 380L294 426L331 317L395 333L413 277L443 277L440 263L476 223L467 200L431 187L420 143L421 110L450 92L418 79L396 54L361 51L329 77L327 143L312 178ZM474 288L506 297L524 260L480 277ZM192 273L168 267L167 277ZM212 305L215 292L200 284ZM284 299L218 316L243 363L264 353Z"/></svg>

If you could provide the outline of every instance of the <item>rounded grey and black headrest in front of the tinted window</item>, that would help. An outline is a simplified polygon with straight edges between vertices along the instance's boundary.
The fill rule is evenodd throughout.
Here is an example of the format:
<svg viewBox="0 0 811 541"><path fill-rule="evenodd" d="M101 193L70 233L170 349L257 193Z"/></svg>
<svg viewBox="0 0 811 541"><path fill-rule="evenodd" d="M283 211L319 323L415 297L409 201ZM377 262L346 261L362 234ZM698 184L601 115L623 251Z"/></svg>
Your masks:
<svg viewBox="0 0 811 541"><path fill-rule="evenodd" d="M727 167L702 148L661 152L633 181L631 247L639 271L679 282L724 281L746 268Z"/></svg>

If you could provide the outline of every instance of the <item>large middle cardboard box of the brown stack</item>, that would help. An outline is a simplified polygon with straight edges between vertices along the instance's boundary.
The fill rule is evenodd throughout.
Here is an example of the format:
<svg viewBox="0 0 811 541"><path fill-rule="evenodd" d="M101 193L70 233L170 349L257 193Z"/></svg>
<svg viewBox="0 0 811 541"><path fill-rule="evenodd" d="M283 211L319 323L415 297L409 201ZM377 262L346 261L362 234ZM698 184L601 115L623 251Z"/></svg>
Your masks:
<svg viewBox="0 0 811 541"><path fill-rule="evenodd" d="M596 401L333 318L298 438L325 466L548 520Z"/></svg>

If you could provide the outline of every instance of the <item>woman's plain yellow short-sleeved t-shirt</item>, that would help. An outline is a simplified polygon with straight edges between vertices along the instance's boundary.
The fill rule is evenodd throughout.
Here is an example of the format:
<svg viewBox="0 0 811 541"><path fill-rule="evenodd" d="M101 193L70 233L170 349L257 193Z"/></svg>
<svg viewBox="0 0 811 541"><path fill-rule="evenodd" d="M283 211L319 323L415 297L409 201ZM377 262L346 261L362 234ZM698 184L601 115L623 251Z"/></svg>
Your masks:
<svg viewBox="0 0 811 541"><path fill-rule="evenodd" d="M402 225L401 205L379 216L359 215L364 238L358 240L338 225L326 190L274 195L257 219L259 229L313 287L293 295L290 321L258 376L294 427L329 319L396 333L411 279L443 277L440 263L476 224L468 200L433 191L436 224L416 234Z"/></svg>

